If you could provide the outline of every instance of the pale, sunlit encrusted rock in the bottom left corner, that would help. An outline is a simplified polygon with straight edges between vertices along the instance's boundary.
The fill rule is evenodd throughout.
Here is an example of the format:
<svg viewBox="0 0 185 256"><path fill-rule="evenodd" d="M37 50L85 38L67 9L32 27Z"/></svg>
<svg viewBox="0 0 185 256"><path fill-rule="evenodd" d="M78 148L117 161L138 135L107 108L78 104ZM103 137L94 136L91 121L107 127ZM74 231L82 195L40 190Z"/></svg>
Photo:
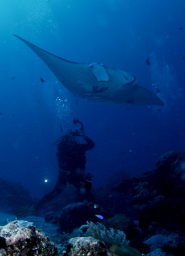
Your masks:
<svg viewBox="0 0 185 256"><path fill-rule="evenodd" d="M57 249L50 239L32 222L13 221L0 226L1 256L57 256Z"/></svg>

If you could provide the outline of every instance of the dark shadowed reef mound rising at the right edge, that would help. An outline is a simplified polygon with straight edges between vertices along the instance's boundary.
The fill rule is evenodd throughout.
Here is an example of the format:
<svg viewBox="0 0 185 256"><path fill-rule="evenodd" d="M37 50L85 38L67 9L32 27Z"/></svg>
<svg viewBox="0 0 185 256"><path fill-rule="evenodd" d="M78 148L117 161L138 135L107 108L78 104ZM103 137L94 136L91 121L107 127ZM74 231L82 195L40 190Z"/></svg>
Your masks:
<svg viewBox="0 0 185 256"><path fill-rule="evenodd" d="M184 153L167 152L157 160L153 172L127 178L113 187L122 194L131 194L130 210L145 232L154 222L163 229L185 231L184 163Z"/></svg>

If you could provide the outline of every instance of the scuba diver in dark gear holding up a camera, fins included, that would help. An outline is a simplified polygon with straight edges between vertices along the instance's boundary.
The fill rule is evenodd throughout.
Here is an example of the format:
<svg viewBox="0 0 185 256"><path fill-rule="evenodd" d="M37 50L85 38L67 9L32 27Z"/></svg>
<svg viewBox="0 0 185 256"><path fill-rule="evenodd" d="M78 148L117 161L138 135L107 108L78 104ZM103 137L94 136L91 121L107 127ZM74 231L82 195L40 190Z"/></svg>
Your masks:
<svg viewBox="0 0 185 256"><path fill-rule="evenodd" d="M65 188L68 188L69 184L77 188L80 199L94 200L90 192L92 188L92 175L90 173L85 175L84 172L86 164L85 152L94 147L94 142L85 136L83 123L78 119L73 119L73 123L79 123L81 125L80 129L69 129L64 136L57 139L53 144L57 145L56 157L59 165L59 168L57 168L59 173L54 189L46 194L36 205L15 210L17 217L31 215L35 210L41 208L42 205L58 196ZM80 143L77 137L83 137L86 143Z"/></svg>

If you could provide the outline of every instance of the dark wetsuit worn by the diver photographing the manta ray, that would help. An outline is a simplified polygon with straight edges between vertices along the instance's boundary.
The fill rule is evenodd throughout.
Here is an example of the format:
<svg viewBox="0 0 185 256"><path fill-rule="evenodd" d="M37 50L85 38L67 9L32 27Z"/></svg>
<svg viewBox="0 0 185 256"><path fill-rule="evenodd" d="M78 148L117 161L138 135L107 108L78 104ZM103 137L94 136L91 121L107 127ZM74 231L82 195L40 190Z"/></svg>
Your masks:
<svg viewBox="0 0 185 256"><path fill-rule="evenodd" d="M89 192L92 186L92 176L89 173L85 176L84 173L86 164L85 151L92 149L94 142L87 136L83 136L83 139L87 143L80 144L72 135L66 134L61 137L60 143L58 144L58 152L56 153L59 164L59 175L55 188L36 204L36 209L50 202L60 194L68 184L72 184L78 190L83 187L86 191L85 194Z"/></svg>

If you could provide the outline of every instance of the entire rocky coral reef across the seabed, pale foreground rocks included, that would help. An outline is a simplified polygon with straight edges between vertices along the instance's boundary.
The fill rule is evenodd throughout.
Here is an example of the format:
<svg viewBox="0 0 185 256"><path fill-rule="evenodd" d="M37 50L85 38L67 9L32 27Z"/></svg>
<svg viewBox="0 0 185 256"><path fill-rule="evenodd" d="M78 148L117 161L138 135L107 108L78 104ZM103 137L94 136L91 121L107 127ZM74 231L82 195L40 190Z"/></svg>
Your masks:
<svg viewBox="0 0 185 256"><path fill-rule="evenodd" d="M142 251L147 256L183 256L185 153L167 152L159 157L152 172L137 177L124 174L123 178L120 182L121 179L116 177L119 184L113 186L109 182L107 187L97 191L100 201L95 208L91 202L69 205L68 200L61 203L59 198L50 202L51 207L43 208L43 213L47 212L46 222L39 227L47 226L46 234L55 245L31 223L32 219L27 219L31 222L14 221L0 226L0 255L141 256ZM13 209L12 205L15 206L17 200L14 196L8 199L5 184L2 183L0 198L3 200L5 196L2 204ZM10 189L10 184L7 188ZM10 192L15 188L19 188L18 198L21 201L20 191L24 192L24 189L15 185ZM15 202L11 205L12 200ZM96 214L101 214L104 219L98 220ZM101 224L87 221L99 221ZM86 222L87 225L83 225ZM1 222L3 224L5 222Z"/></svg>

